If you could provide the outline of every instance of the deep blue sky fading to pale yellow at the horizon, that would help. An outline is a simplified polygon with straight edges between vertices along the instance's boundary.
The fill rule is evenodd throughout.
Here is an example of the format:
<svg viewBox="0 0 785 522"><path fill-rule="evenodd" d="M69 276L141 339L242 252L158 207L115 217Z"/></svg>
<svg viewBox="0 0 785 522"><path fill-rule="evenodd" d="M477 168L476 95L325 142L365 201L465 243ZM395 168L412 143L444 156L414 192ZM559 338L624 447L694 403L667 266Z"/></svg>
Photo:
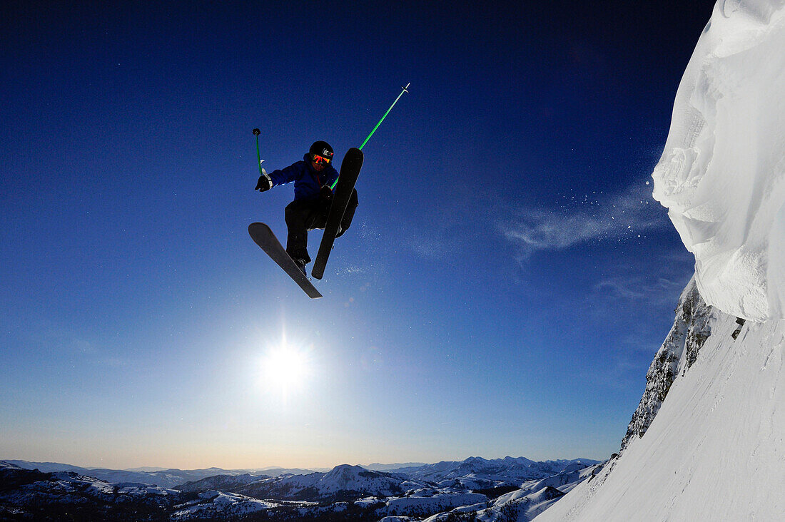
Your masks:
<svg viewBox="0 0 785 522"><path fill-rule="evenodd" d="M712 5L4 2L0 458L608 458L692 276L648 180ZM340 159L407 82L309 300L251 130Z"/></svg>

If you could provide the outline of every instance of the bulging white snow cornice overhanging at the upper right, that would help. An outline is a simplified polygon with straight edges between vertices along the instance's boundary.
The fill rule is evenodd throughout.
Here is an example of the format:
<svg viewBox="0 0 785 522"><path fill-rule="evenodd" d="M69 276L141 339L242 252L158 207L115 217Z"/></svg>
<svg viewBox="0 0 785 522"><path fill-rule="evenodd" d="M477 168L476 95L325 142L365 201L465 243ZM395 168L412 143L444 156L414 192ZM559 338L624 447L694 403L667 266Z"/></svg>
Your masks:
<svg viewBox="0 0 785 522"><path fill-rule="evenodd" d="M785 318L785 0L719 0L677 91L654 197L703 298Z"/></svg>

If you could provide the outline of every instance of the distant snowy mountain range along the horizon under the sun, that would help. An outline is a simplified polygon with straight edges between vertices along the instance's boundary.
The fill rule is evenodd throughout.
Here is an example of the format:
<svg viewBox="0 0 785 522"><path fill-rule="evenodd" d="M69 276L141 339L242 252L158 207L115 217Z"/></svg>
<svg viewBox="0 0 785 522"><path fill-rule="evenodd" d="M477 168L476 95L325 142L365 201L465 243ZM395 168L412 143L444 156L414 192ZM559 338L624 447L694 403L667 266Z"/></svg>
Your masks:
<svg viewBox="0 0 785 522"><path fill-rule="evenodd" d="M49 463L48 467L68 466ZM499 520L513 511L533 517L597 469L597 462L588 459L534 462L473 457L391 472L358 465L279 476L230 471L162 487L109 482L76 471L24 469L5 461L0 462L0 519L57 520L77 509L83 517L97 520L122 520L129 513L134 513L131 520L252 520L260 512L274 520L443 520L440 513L453 512L482 512L481 520ZM96 470L87 470L91 471ZM173 470L97 471L146 474L148 480L175 476Z"/></svg>

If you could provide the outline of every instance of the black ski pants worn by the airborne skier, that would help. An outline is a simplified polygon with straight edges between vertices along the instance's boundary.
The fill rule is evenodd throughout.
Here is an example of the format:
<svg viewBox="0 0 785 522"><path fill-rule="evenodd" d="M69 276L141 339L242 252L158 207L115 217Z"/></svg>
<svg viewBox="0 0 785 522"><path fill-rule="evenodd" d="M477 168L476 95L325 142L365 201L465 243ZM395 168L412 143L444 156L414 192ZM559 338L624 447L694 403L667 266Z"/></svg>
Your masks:
<svg viewBox="0 0 785 522"><path fill-rule="evenodd" d="M346 206L346 212L341 220L341 232L335 237L341 237L352 224L354 211L357 209L357 189L352 191L352 197ZM326 199L295 199L287 205L285 216L287 220L287 254L292 259L305 259L311 262L308 255L308 231L327 226L327 214L330 212L330 202Z"/></svg>

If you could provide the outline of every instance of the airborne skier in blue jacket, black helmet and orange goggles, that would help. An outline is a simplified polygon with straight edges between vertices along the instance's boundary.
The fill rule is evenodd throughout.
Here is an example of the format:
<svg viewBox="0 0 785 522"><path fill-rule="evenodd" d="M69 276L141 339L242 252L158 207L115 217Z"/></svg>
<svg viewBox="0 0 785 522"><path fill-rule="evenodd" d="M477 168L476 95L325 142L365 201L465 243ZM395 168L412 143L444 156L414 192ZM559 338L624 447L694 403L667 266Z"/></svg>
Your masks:
<svg viewBox="0 0 785 522"><path fill-rule="evenodd" d="M294 201L287 205L284 212L288 228L287 254L306 275L305 265L311 262L307 250L308 231L324 228L327 224L327 214L333 198L330 186L338 179L338 171L331 165L332 160L333 148L330 144L326 141L315 141L302 161L282 170L263 173L254 189L265 192L294 181ZM349 229L356 208L357 190L354 189L341 220L341 228L335 237L341 237Z"/></svg>

